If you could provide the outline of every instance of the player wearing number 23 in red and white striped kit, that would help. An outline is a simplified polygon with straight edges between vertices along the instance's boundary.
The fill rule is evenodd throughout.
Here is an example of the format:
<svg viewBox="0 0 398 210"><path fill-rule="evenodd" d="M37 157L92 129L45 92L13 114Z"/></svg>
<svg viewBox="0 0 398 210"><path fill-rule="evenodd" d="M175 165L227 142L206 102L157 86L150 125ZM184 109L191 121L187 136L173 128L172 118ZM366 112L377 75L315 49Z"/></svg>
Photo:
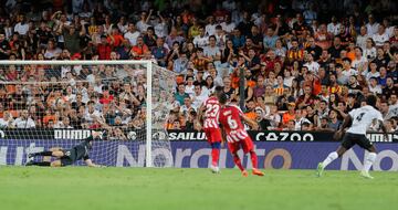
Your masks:
<svg viewBox="0 0 398 210"><path fill-rule="evenodd" d="M211 170L219 172L218 161L221 148L221 132L219 126L220 104L217 94L221 93L222 87L216 87L216 92L207 98L199 109L199 118L203 118L203 132L211 146Z"/></svg>

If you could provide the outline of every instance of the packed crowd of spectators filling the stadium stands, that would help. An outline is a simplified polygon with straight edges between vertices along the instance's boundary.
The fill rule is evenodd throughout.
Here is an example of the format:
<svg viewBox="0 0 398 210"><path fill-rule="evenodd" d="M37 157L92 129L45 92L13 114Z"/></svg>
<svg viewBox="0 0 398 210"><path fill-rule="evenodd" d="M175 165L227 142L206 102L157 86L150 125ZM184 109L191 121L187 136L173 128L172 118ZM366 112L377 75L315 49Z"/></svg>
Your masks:
<svg viewBox="0 0 398 210"><path fill-rule="evenodd" d="M1 2L1 60L151 60L175 72L168 129L198 129L198 108L216 86L239 103L241 70L243 109L261 129L335 130L368 94L379 96L389 132L397 127L392 0ZM0 72L1 127L145 126L139 67Z"/></svg>

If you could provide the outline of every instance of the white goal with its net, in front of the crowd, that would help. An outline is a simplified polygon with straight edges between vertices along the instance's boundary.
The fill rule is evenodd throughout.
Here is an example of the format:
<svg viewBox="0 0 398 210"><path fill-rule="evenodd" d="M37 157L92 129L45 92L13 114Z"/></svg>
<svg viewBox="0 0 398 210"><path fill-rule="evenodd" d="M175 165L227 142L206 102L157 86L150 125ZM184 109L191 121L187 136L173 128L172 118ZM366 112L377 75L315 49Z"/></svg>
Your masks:
<svg viewBox="0 0 398 210"><path fill-rule="evenodd" d="M150 61L0 61L0 165L24 165L30 153L70 149L102 130L94 162L170 167L165 122L175 77Z"/></svg>

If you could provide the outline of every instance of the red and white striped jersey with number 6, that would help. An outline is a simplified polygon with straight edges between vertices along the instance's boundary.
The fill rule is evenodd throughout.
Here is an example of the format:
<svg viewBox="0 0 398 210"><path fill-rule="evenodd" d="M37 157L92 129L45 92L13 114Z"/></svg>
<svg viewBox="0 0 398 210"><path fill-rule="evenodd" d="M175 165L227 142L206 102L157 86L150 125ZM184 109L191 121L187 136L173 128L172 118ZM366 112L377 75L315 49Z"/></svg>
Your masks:
<svg viewBox="0 0 398 210"><path fill-rule="evenodd" d="M244 115L243 112L234 105L221 108L219 120L226 130L228 143L240 141L249 137L241 120L242 115Z"/></svg>

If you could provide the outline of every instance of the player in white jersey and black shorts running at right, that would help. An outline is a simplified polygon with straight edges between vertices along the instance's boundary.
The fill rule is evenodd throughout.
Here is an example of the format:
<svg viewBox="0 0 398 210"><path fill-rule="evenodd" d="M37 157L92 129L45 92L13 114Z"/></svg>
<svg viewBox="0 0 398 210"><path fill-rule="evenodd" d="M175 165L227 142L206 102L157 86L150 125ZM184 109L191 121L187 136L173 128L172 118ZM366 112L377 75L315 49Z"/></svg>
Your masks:
<svg viewBox="0 0 398 210"><path fill-rule="evenodd" d="M322 176L322 172L327 165L329 165L333 160L342 157L344 153L346 153L349 148L357 144L359 147L369 151L368 155L365 157L364 168L360 171L360 176L373 179L373 177L369 175L369 169L376 160L376 148L370 143L370 140L366 138L366 129L369 127L373 120L376 119L378 120L378 124L380 125L385 134L385 138L388 138L387 129L383 123L383 115L379 111L375 108L376 103L377 97L375 95L369 95L366 97L365 106L353 109L348 113L348 115L344 119L342 127L339 128L339 130L336 132L334 136L336 139L341 139L341 137L344 135L342 145L337 148L336 151L331 153L323 162L318 164L316 171L318 177ZM352 123L350 126L349 123ZM347 127L348 129L344 134L344 130Z"/></svg>

